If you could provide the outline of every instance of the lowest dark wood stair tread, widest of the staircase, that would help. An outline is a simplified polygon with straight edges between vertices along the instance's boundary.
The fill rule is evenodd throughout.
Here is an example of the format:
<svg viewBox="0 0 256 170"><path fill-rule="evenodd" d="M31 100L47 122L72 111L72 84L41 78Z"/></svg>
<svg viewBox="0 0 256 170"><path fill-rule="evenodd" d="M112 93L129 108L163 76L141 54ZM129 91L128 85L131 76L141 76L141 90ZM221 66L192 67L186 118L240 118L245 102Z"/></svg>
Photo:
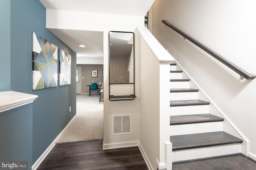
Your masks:
<svg viewBox="0 0 256 170"><path fill-rule="evenodd" d="M172 143L172 150L194 149L243 142L242 139L223 131L170 136L170 141Z"/></svg>

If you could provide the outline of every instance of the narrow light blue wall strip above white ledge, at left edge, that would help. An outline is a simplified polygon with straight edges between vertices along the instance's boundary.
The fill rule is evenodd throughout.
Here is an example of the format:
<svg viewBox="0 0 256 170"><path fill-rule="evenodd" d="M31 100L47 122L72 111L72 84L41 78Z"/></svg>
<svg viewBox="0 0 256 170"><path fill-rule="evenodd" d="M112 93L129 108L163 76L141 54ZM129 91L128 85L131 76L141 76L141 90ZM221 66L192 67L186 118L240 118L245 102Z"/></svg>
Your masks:
<svg viewBox="0 0 256 170"><path fill-rule="evenodd" d="M0 1L0 91L10 90L10 0Z"/></svg>

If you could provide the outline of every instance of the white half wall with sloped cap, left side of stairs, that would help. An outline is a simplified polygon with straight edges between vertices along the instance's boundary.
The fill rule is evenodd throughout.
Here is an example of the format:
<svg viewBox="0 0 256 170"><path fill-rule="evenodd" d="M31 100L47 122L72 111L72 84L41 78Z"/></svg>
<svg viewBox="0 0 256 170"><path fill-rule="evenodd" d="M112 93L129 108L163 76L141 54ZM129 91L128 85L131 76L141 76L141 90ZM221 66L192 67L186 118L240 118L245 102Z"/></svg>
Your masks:
<svg viewBox="0 0 256 170"><path fill-rule="evenodd" d="M173 60L145 27L138 27L135 61L139 72L139 141L152 169L163 169L164 141L170 141L170 60ZM157 161L156 161L157 160Z"/></svg>

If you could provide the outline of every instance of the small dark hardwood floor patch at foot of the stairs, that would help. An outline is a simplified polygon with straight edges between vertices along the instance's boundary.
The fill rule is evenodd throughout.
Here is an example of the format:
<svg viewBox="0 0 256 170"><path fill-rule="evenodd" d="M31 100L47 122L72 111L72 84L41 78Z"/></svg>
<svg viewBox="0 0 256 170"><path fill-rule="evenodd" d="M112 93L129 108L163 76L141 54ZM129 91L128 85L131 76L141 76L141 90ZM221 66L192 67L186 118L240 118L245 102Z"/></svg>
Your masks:
<svg viewBox="0 0 256 170"><path fill-rule="evenodd" d="M172 170L256 170L256 162L236 155L173 164Z"/></svg>

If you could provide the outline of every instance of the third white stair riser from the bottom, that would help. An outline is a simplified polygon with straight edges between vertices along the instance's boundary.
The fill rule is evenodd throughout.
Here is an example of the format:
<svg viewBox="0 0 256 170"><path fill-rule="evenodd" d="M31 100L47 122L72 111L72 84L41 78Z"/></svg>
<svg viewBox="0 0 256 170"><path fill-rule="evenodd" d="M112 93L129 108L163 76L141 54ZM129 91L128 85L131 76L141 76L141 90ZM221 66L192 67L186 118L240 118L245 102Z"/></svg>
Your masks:
<svg viewBox="0 0 256 170"><path fill-rule="evenodd" d="M209 113L209 105L170 107L170 115L194 115Z"/></svg>

